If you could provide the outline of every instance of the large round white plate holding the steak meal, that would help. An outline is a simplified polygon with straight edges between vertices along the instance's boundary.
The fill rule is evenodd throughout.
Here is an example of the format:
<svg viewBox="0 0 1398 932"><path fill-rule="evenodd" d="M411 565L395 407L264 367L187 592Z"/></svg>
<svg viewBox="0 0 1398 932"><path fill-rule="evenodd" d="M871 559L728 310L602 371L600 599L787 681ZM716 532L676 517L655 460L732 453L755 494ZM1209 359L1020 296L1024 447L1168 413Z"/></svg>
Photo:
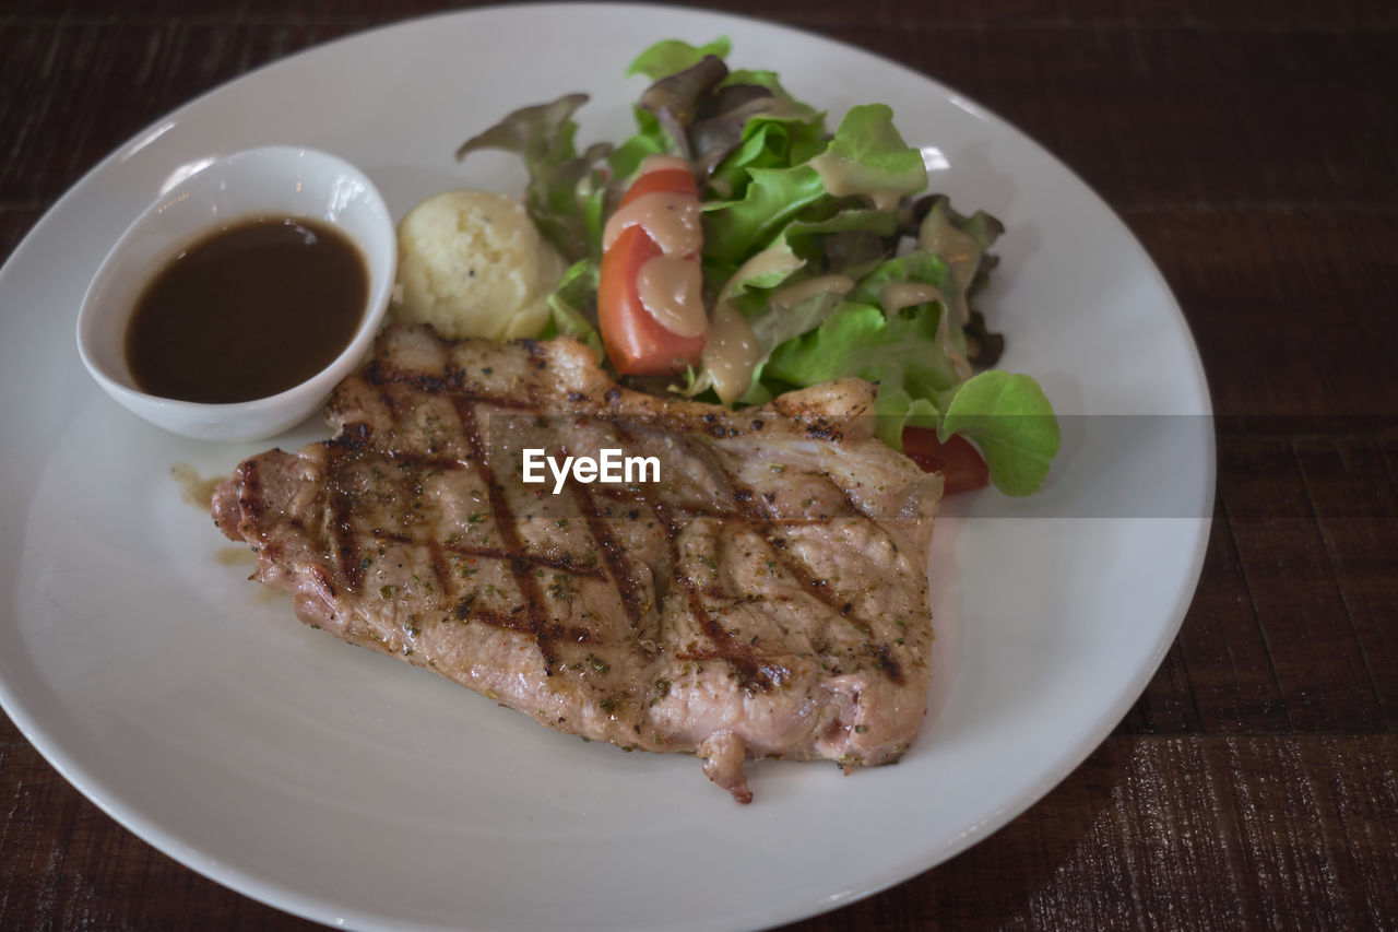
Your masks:
<svg viewBox="0 0 1398 932"><path fill-rule="evenodd" d="M299 143L365 168L396 216L510 160L453 151L514 106L593 95L618 139L668 36L727 34L836 118L892 104L948 168L932 185L1009 228L987 305L1064 452L1029 501L956 501L932 579L941 715L898 767L751 765L734 805L691 758L624 754L352 649L259 596L183 504L172 463L254 446L159 432L87 378L82 288L183 167ZM0 273L0 700L122 824L221 883L354 926L727 928L898 883L984 838L1067 775L1141 693L1191 599L1209 530L1208 390L1188 329L1125 227L1016 130L826 39L678 8L496 7L354 36L246 76L98 165ZM1181 414L1198 417L1099 417ZM1082 416L1082 417L1079 417ZM282 438L295 446L315 425ZM259 445L260 446L260 445Z"/></svg>

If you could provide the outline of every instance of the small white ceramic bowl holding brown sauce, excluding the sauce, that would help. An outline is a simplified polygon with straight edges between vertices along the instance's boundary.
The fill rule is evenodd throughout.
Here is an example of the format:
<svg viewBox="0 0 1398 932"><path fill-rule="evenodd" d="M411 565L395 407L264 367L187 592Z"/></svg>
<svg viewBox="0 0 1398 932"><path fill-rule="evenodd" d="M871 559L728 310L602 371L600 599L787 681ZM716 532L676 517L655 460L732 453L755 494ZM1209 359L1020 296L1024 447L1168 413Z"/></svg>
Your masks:
<svg viewBox="0 0 1398 932"><path fill-rule="evenodd" d="M141 390L126 339L143 292L190 245L254 217L320 221L362 252L368 299L348 346L305 382L268 397L208 404ZM196 439L263 439L309 417L368 355L396 269L393 217L373 182L350 162L295 146L222 155L165 190L117 239L82 298L78 354L108 395L157 427ZM277 340L278 333L261 337Z"/></svg>

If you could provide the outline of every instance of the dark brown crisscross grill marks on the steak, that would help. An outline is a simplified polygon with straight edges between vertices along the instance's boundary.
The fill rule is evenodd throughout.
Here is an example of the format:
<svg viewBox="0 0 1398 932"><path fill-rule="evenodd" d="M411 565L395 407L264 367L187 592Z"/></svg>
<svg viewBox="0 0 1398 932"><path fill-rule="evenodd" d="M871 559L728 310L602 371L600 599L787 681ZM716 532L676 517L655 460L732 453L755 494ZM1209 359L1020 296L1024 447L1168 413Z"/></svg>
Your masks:
<svg viewBox="0 0 1398 932"><path fill-rule="evenodd" d="M454 374L443 376L424 376L404 374L393 367L376 362L370 367L370 381L384 386L384 393L389 397L396 397L398 392L412 389L450 399L468 453L466 462L440 455L422 456L411 451L398 452L394 449L391 452L391 459L398 469L400 498L404 505L404 529L407 530L407 525L414 521L414 505L422 495L421 477L424 470L473 469L488 491L491 515L493 518L492 523L502 546L471 544L457 539L447 539L445 542L429 539L426 547L432 564L432 577L440 591L446 596L450 596L453 582L447 568L449 554L500 561L509 567L510 575L523 598L523 605L509 614L487 612L480 606L473 607L470 614L484 624L509 628L533 637L538 642L540 651L544 655L545 670L549 675L552 675L558 663L556 652L551 645L558 640L586 642L586 638L577 637L577 631L561 628L548 617L545 610L548 600L544 598L538 581L540 571L547 570L584 579L608 581L615 592L617 603L625 614L628 627L633 633L643 627L642 616L651 607L650 593L642 584L640 568L632 563L625 549L617 543L610 528L611 519L603 516L598 509L597 500L601 498L610 502L633 505L635 508L630 509L630 515L639 515L642 511L654 515L664 530L670 547L671 575L684 588L689 612L710 642L709 648L691 652L691 659L721 659L733 668L744 687L752 690L768 691L776 689L790 676L790 670L786 666L766 659L749 642L731 637L703 603L705 598L716 599L721 603L735 603L740 600L751 603L754 600L765 600L766 596L754 593L731 596L719 591L700 591L684 567L678 553L678 535L689 521L698 516L709 516L727 522L730 526L744 526L755 530L756 537L761 539L768 550L768 558L780 567L800 591L828 607L833 617L840 619L858 633L863 642L860 654L871 658L874 668L884 676L893 682L902 682L902 670L898 662L892 659L888 644L882 644L874 637L870 621L854 612L851 598L833 591L825 577L795 557L787 546L787 540L783 536L784 532L793 528L823 525L829 522L830 516L809 518L783 512L773 504L773 494L759 494L741 483L724 465L723 458L707 445L707 441L693 435L681 435L681 442L678 444L682 456L698 463L702 473L712 483L713 498L705 507L696 511L692 505L661 502L637 487L587 487L569 476L565 481L568 494L582 516L596 553L601 557L601 565L597 563L583 563L575 554L566 551L561 554L531 553L524 546L519 521L510 508L509 497L496 474L496 467L492 463L492 451L481 434L481 407L491 406L493 409L505 406L502 404L502 397L467 390L463 388L463 378L459 369ZM580 393L573 395L586 400L586 396ZM528 393L512 396L509 402L507 410L526 410L530 406L538 407L535 402L528 400ZM400 416L403 414L401 404L397 400L393 402L391 407ZM608 413L603 420L615 432L621 444L635 445L642 434L656 430L654 423L630 423L617 413ZM706 418L706 432L712 432L720 427L721 424L713 417ZM334 469L343 470L351 459L368 449L370 442L372 431L368 427L350 425L345 438L333 449L331 460ZM807 479L809 481L819 481L822 488L836 490L836 501L843 504L842 512L836 516L857 514L847 491L839 483L835 483L828 473L808 474ZM340 568L345 582L352 589L358 589L362 584L363 570L354 533L354 494L338 488L333 505L333 526L340 553ZM375 529L375 533L386 540L407 542L415 539L414 535L396 533L396 530ZM780 600L786 600L786 596ZM461 606L470 605L473 605L470 600L454 603L459 619L464 619Z"/></svg>

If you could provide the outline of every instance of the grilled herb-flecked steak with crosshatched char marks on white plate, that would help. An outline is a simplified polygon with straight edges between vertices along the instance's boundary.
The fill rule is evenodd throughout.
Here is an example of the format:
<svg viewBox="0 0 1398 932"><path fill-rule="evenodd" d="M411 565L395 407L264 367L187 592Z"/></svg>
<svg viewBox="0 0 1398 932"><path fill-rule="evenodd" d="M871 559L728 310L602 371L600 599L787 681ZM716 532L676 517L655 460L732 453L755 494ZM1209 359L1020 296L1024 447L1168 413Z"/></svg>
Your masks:
<svg viewBox="0 0 1398 932"><path fill-rule="evenodd" d="M390 327L334 439L247 459L214 518L303 621L563 732L698 751L747 802L745 757L892 763L925 712L941 477L871 437L872 399L728 411L617 386L570 340ZM530 448L660 480L555 494Z"/></svg>

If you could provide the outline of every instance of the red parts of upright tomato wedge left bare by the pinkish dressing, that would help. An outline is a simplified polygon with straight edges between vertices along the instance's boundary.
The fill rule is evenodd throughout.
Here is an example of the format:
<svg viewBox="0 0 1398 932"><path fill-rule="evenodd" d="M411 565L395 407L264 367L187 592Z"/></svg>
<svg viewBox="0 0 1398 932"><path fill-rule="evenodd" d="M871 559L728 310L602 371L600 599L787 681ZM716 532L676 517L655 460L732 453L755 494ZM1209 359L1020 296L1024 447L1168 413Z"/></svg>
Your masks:
<svg viewBox="0 0 1398 932"><path fill-rule="evenodd" d="M688 168L646 171L632 182L621 207L650 193L686 195L698 203L699 192ZM706 334L682 336L667 329L642 304L640 269L663 255L644 227L626 227L603 252L597 283L597 323L612 365L622 375L674 375L698 365ZM686 259L699 262L698 253Z"/></svg>

